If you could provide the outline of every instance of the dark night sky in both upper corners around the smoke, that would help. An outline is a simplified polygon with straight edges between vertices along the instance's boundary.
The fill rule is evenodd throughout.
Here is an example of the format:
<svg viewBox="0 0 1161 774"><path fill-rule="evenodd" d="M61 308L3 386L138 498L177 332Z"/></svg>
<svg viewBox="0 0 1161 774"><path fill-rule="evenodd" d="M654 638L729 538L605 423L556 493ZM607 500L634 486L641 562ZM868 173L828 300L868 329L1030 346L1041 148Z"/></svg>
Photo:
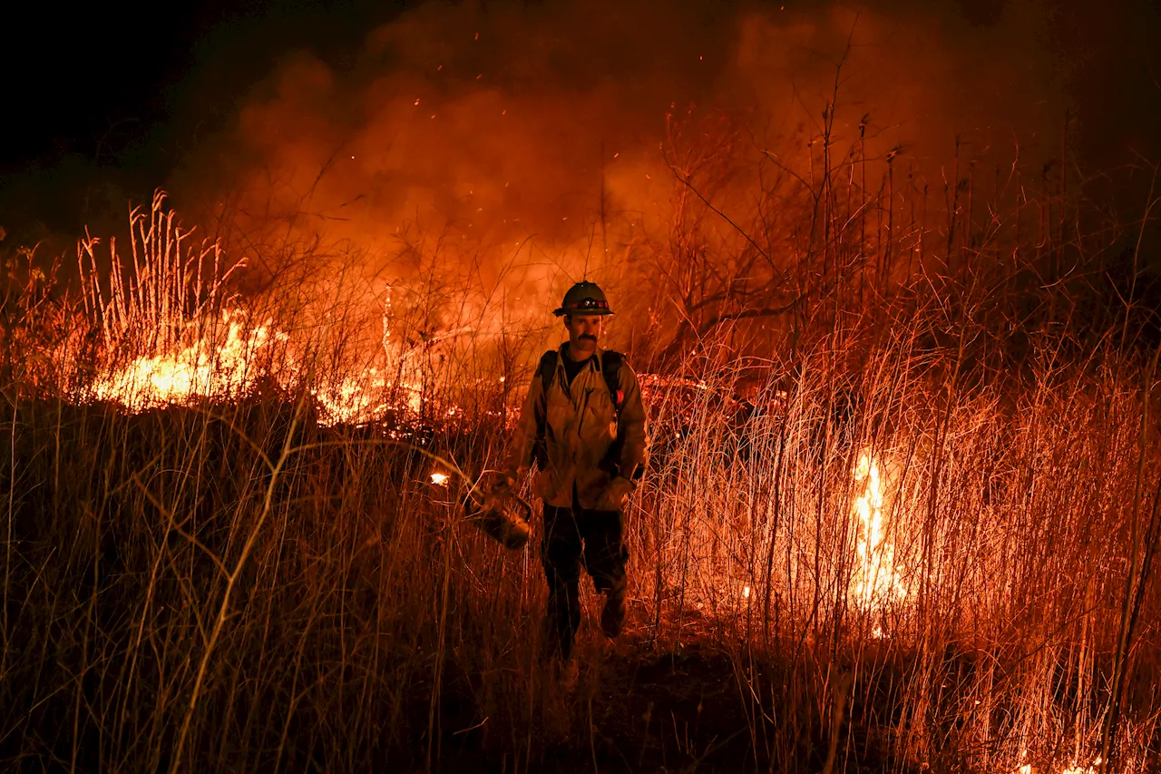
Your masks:
<svg viewBox="0 0 1161 774"><path fill-rule="evenodd" d="M72 238L82 224L123 218L128 199L166 185L176 167L196 158L203 141L225 130L254 85L281 62L309 51L341 73L355 66L370 30L417 5L208 0L82 3L67 12L53 3L22 2L6 9L0 227L22 241ZM529 14L553 6L525 5ZM737 3L697 5L717 13ZM809 16L834 3L785 5ZM895 19L924 15L936 26L945 19L952 30L946 34L964 38L967 48L975 45L967 40L972 36L987 41L987 30L1014 9L1044 14L1048 21L1038 35L1051 40L1029 40L1027 46L1037 57L1051 57L1063 73L1081 119L1077 156L1105 169L1124 164L1135 151L1161 152L1158 0L935 5L940 10L931 12L925 0L882 0L868 7ZM989 44L981 45L973 53L986 60Z"/></svg>

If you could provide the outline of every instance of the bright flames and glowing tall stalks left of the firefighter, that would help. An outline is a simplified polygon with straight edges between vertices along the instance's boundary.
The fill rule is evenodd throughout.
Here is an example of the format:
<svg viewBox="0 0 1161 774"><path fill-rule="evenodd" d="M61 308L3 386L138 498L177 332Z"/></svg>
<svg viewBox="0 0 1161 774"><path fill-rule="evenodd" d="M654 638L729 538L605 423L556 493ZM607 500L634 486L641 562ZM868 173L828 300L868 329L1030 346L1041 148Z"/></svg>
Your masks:
<svg viewBox="0 0 1161 774"><path fill-rule="evenodd" d="M362 366L320 375L308 360L310 342L291 341L272 320L259 321L237 308L228 280L245 259L230 264L215 242L189 245L192 230L182 229L164 205L165 193L158 191L147 210L130 213L131 272L110 239L111 270L102 281L96 239L78 246L85 311L101 335L104 359L87 385L62 380L71 393L136 413L238 400L264 379L284 394L309 389L324 425L376 422L392 410L419 413L421 381L416 367L403 367L416 349L405 352L391 337L390 285L378 353Z"/></svg>

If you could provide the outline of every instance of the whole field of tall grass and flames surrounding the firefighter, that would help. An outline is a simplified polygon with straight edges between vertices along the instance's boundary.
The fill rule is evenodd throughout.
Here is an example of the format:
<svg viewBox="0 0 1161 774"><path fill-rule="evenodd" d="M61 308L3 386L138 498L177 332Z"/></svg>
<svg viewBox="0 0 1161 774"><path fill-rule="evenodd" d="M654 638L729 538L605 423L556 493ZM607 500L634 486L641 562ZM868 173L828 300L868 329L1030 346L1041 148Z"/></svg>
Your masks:
<svg viewBox="0 0 1161 774"><path fill-rule="evenodd" d="M159 208L135 216L139 243L174 246L135 252L136 279L102 289L82 267L96 334L41 301L6 329L5 760L1161 762L1161 449L1140 352L1063 357L1034 334L996 370L940 296L832 320L758 367L706 346L682 378L644 378L628 633L610 648L583 630L562 693L538 659L534 544L506 552L459 510L460 472L505 443L511 343L384 302L376 344L348 346L367 325L229 294L221 256L182 252Z"/></svg>

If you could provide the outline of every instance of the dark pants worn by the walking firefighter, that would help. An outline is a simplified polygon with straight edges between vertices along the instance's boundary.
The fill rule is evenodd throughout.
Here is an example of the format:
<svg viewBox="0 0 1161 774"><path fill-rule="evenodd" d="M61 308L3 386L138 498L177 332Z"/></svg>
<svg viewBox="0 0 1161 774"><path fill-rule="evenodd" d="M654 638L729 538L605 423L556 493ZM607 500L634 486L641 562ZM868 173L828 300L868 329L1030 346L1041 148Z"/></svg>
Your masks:
<svg viewBox="0 0 1161 774"><path fill-rule="evenodd" d="M569 658L580 628L582 560L598 593L625 588L629 551L625 547L621 513L556 508L546 502L540 560L548 580L546 650Z"/></svg>

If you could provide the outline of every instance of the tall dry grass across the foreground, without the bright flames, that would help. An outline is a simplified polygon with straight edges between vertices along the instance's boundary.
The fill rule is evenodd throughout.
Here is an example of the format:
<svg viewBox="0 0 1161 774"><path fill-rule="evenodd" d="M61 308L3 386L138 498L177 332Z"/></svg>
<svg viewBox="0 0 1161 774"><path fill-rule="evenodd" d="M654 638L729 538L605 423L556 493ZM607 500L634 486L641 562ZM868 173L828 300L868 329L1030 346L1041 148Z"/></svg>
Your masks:
<svg viewBox="0 0 1161 774"><path fill-rule="evenodd" d="M827 357L772 374L762 397L785 395L745 421L714 390L683 411L658 401L655 433L673 438L629 517L636 655L584 645L586 680L568 697L543 691L535 553L460 521L452 493L426 483L427 457L320 429L294 403L124 416L17 402L6 753L81 769L419 768L448 754L538 768L554 745L601 746L586 712L621 690L608 669L698 646L730 655L751 765L817 765L831 726L846 766L1094 755L1134 519L1156 537L1141 370L1045 366L1022 394L952 392L925 378L933 363L888 346L839 394ZM503 443L483 423L417 432L409 443L466 470ZM885 468L908 588L873 612L849 594L864 450ZM1119 736L1139 771L1161 644L1161 599L1140 588ZM679 738L678 721L657 733Z"/></svg>

